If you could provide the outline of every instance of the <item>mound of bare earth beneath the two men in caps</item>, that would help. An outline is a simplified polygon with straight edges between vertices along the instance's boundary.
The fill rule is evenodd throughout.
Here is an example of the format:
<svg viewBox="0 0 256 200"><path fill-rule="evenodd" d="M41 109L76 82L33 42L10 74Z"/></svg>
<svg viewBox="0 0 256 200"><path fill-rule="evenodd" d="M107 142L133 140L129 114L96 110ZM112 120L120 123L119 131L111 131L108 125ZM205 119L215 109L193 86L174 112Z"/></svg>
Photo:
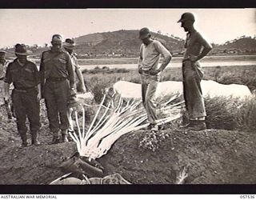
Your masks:
<svg viewBox="0 0 256 200"><path fill-rule="evenodd" d="M137 131L98 161L136 184L175 183L184 169L189 184L254 184L254 142L254 133L228 130Z"/></svg>

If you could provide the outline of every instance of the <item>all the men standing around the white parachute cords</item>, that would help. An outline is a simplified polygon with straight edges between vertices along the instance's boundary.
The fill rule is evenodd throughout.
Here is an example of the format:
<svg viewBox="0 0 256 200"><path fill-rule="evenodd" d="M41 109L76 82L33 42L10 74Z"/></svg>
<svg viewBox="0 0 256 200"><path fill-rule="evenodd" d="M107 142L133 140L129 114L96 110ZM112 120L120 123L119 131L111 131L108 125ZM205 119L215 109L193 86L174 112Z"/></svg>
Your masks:
<svg viewBox="0 0 256 200"><path fill-rule="evenodd" d="M205 130L206 110L200 86L203 74L198 60L206 56L212 47L194 29L193 14L182 14L182 18L178 22L182 23L182 27L187 32L182 75L186 110L190 116L189 122L182 124L181 127ZM139 31L139 38L142 40L138 60L138 73L141 75L142 81L142 103L150 122L148 129L158 130L154 94L160 75L172 56L161 42L151 38L148 28L142 28ZM40 144L38 130L40 128L39 101L41 98L44 98L46 102L47 117L53 135L52 142L66 142L69 129L68 113L70 112L68 103L70 97L76 94L75 74L82 84L82 92L86 91L77 58L73 53L74 41L66 39L62 43L62 36L54 34L51 44L51 49L42 53L39 70L34 62L27 60L27 56L31 54L30 50L26 50L25 45L17 44L14 52L17 58L9 63L5 76L0 74L1 80L5 82L4 98L6 101L10 98L10 84L14 85L11 98L17 118L18 134L22 138L22 146L28 145L26 117L30 122L31 144L35 146ZM1 67L5 62L4 54L3 51L0 52ZM161 55L163 57L162 65L158 67Z"/></svg>

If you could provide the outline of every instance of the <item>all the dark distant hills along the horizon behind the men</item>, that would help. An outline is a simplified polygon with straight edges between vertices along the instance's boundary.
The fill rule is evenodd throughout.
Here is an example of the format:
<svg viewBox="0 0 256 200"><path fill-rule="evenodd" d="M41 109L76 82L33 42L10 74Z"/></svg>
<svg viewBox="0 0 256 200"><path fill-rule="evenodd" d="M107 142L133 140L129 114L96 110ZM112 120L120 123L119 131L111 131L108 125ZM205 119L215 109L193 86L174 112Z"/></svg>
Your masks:
<svg viewBox="0 0 256 200"><path fill-rule="evenodd" d="M152 38L162 42L171 53L182 55L184 51L184 40L173 35L152 33ZM101 58L101 57L137 57L142 42L138 39L138 30L117 30L105 33L86 34L74 38L77 46L75 52L78 58ZM214 49L210 54L255 54L256 38L242 36L225 42L222 45L213 44ZM34 58L39 58L43 50L49 46L28 46L33 51ZM5 49L7 57L14 57L14 48Z"/></svg>

